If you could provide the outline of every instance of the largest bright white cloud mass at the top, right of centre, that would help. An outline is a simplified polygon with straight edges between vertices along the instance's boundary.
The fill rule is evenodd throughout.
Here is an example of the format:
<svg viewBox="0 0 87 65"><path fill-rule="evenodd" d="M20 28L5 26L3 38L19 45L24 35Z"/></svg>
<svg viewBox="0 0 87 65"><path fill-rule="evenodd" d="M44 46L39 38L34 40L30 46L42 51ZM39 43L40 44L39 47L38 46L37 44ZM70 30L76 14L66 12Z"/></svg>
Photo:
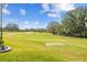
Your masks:
<svg viewBox="0 0 87 65"><path fill-rule="evenodd" d="M74 4L70 3L45 3L42 4L43 10L40 13L47 13L51 18L57 18L61 11L70 11L74 10Z"/></svg>

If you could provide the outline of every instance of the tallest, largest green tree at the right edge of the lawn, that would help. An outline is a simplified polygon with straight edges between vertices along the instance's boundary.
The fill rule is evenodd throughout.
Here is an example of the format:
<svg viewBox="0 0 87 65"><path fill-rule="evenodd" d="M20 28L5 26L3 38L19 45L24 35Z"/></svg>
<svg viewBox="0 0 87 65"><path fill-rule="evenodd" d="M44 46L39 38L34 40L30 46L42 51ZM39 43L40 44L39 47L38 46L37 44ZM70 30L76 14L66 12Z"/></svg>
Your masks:
<svg viewBox="0 0 87 65"><path fill-rule="evenodd" d="M86 8L77 8L73 11L67 12L62 21L62 24L64 25L64 32L66 33L66 35L84 36L84 32L87 32L86 18Z"/></svg>

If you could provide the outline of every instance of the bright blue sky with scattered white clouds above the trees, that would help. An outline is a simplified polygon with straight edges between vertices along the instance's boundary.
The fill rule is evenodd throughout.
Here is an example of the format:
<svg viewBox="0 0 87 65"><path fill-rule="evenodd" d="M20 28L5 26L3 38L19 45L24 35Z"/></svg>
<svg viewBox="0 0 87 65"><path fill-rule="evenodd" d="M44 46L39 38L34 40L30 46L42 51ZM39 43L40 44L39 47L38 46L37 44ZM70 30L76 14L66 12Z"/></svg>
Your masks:
<svg viewBox="0 0 87 65"><path fill-rule="evenodd" d="M20 29L44 29L52 21L59 22L63 14L86 3L10 3L3 8L3 26L17 23Z"/></svg>

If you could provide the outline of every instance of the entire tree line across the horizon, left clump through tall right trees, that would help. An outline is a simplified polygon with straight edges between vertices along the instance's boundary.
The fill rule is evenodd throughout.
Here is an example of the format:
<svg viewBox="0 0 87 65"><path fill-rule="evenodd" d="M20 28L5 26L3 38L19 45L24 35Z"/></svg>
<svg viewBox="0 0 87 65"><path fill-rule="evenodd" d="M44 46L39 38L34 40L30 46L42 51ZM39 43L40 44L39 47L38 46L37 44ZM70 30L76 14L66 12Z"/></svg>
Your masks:
<svg viewBox="0 0 87 65"><path fill-rule="evenodd" d="M3 31L10 32L48 32L54 35L68 35L87 37L87 8L76 8L66 12L61 22L55 21L47 24L46 29L23 29L18 24L9 23Z"/></svg>

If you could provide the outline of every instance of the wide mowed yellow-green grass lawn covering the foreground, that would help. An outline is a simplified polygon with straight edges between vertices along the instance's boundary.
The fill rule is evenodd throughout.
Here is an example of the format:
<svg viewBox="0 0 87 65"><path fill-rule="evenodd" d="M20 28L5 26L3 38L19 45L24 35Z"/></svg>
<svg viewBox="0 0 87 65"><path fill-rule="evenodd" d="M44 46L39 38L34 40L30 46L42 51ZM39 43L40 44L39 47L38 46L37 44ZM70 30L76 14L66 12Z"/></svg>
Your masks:
<svg viewBox="0 0 87 65"><path fill-rule="evenodd" d="M0 53L0 62L87 62L87 39L28 32L6 32L3 36L12 51Z"/></svg>

